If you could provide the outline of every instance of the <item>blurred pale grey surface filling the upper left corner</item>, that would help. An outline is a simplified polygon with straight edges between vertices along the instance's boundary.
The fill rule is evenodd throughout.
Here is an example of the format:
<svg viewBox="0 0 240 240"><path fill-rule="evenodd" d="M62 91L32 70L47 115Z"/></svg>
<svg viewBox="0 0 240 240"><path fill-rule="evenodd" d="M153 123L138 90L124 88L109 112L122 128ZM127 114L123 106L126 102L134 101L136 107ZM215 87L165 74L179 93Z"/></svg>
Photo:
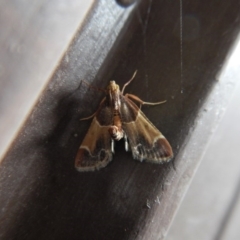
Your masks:
<svg viewBox="0 0 240 240"><path fill-rule="evenodd" d="M0 3L0 161L93 1Z"/></svg>

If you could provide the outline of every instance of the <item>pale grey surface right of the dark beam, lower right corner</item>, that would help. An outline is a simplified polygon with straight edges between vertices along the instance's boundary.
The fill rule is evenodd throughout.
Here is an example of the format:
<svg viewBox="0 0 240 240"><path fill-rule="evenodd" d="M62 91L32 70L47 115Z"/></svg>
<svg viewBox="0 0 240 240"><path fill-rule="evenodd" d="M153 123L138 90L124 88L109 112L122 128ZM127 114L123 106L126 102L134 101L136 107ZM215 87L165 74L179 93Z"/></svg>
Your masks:
<svg viewBox="0 0 240 240"><path fill-rule="evenodd" d="M229 101L220 126L170 227L166 240L238 240L240 239L240 42L221 74L220 84L235 89L233 98L224 93L211 99ZM232 84L236 79L237 84ZM212 98L212 97L211 97ZM223 100L224 99L224 100ZM218 115L218 108L208 111ZM202 231L204 229L204 231Z"/></svg>

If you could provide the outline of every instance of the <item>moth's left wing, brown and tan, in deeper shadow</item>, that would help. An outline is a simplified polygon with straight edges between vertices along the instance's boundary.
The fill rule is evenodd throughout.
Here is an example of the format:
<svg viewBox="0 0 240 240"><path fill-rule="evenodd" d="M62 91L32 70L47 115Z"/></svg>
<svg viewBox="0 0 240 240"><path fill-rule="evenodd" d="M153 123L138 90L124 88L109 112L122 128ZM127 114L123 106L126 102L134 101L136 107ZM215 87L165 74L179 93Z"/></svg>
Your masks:
<svg viewBox="0 0 240 240"><path fill-rule="evenodd" d="M75 167L80 172L105 167L112 160L111 137L108 132L111 110L106 101L100 105L91 126L78 149Z"/></svg>

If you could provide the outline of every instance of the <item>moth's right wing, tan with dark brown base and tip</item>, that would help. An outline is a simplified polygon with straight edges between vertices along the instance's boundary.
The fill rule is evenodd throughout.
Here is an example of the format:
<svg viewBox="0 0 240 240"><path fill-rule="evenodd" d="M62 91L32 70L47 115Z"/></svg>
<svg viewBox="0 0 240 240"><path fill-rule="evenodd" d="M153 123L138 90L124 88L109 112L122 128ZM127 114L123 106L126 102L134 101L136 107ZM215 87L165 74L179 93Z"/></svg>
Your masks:
<svg viewBox="0 0 240 240"><path fill-rule="evenodd" d="M168 162L173 157L171 145L129 98L122 96L121 117L134 159L154 163Z"/></svg>

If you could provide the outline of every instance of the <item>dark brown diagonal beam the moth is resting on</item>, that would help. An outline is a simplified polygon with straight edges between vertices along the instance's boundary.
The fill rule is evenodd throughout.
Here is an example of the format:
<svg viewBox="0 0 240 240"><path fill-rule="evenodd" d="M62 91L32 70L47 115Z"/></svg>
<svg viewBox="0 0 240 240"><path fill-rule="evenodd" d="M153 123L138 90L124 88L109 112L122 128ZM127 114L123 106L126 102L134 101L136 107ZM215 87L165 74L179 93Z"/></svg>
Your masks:
<svg viewBox="0 0 240 240"><path fill-rule="evenodd" d="M239 32L238 4L184 1L182 25L180 2L96 4L2 162L1 239L163 238L219 121L203 113ZM103 97L80 80L122 86L136 69L125 92L167 100L142 110L172 144L176 170L134 161L120 142L108 167L77 172L90 124L79 119Z"/></svg>

